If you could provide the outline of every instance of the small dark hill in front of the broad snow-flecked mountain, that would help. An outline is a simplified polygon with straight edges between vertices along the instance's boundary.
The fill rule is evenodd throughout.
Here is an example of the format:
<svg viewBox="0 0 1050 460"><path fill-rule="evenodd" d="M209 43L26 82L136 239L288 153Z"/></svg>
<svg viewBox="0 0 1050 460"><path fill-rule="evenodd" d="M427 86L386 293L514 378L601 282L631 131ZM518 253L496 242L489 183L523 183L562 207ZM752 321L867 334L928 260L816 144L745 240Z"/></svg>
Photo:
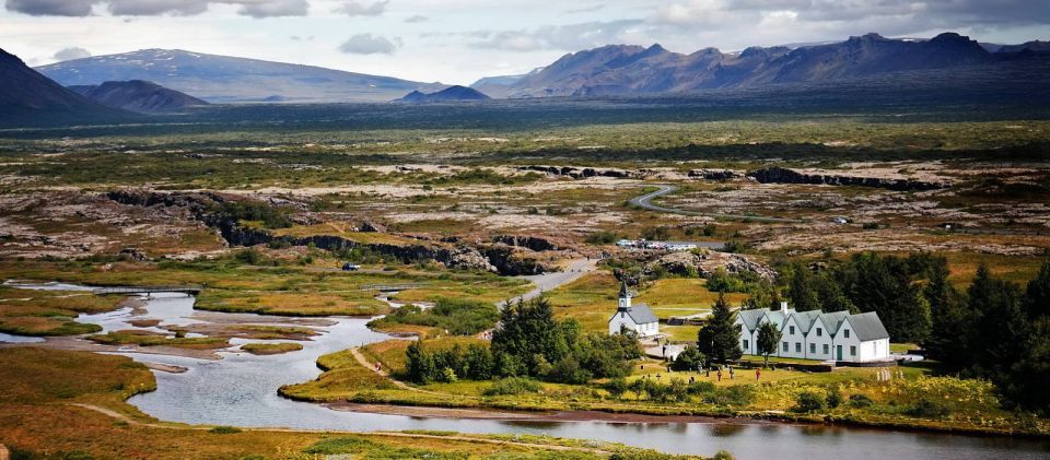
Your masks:
<svg viewBox="0 0 1050 460"><path fill-rule="evenodd" d="M166 114L208 105L194 96L142 80L73 85L69 89L109 107L140 114Z"/></svg>

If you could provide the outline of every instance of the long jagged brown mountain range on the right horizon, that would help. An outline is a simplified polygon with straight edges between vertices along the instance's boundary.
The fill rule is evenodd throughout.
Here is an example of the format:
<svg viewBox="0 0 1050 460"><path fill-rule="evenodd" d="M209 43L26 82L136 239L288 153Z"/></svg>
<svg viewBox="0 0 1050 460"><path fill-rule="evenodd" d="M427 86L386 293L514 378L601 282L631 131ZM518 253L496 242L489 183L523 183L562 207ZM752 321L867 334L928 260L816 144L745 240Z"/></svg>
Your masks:
<svg viewBox="0 0 1050 460"><path fill-rule="evenodd" d="M994 64L1000 58L955 33L932 39L867 34L832 44L751 47L690 55L660 45L610 45L565 55L542 71L494 89L498 97L600 96L684 93L772 83L819 83L887 72Z"/></svg>

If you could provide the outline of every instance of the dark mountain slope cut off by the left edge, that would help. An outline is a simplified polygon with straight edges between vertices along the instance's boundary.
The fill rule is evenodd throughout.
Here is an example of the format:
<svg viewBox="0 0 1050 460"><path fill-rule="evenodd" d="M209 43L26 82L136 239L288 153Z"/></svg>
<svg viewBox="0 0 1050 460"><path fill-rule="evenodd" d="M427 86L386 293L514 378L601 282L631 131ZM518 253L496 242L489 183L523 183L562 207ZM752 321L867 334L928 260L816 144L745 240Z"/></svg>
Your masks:
<svg viewBox="0 0 1050 460"><path fill-rule="evenodd" d="M108 121L129 116L63 87L0 49L0 125Z"/></svg>

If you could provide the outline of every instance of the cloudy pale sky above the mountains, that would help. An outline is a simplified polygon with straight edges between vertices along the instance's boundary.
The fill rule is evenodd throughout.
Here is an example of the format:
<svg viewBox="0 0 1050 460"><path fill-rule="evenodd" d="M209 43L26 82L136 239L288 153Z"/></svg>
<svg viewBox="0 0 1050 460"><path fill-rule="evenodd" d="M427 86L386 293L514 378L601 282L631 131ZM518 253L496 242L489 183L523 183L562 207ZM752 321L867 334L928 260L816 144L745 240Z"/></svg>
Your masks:
<svg viewBox="0 0 1050 460"><path fill-rule="evenodd" d="M33 66L177 48L460 84L607 44L691 52L867 32L1050 38L1050 0L0 1L0 47Z"/></svg>

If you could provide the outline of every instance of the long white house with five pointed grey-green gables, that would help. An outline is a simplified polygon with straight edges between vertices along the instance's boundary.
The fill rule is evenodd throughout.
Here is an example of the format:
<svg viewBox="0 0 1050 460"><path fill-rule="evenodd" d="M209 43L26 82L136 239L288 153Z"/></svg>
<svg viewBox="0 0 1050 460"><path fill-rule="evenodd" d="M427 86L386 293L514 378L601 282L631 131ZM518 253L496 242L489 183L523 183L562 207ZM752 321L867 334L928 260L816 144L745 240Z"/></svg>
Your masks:
<svg viewBox="0 0 1050 460"><path fill-rule="evenodd" d="M780 310L761 308L740 310L735 325L740 328L740 350L758 352L758 329L770 322L780 330L780 344L771 356L851 363L889 359L889 333L874 311L851 315L848 311L795 311L781 303Z"/></svg>

